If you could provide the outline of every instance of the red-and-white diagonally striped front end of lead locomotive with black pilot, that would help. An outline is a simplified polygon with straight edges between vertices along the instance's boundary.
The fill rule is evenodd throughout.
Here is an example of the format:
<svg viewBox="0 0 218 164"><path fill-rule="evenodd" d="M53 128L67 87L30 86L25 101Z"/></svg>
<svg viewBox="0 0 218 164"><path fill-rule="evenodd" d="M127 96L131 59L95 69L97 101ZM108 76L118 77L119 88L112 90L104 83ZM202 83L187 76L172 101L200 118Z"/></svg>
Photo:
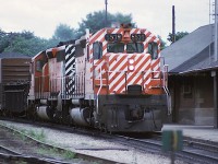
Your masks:
<svg viewBox="0 0 218 164"><path fill-rule="evenodd" d="M95 121L109 131L156 131L167 117L160 40L147 30L105 28L90 38Z"/></svg>

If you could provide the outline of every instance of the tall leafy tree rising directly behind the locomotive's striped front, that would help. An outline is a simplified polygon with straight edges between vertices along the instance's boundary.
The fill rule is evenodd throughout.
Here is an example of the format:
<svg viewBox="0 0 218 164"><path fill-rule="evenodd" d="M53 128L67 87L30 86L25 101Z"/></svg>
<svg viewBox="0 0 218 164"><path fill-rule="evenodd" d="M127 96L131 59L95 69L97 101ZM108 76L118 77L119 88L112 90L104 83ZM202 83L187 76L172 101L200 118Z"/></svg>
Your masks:
<svg viewBox="0 0 218 164"><path fill-rule="evenodd" d="M86 19L83 19L82 22L78 23L78 34L83 35L85 33L85 28L89 28L90 33L95 33L98 30L104 28L105 26L111 26L112 23L132 23L133 26L135 26L135 23L133 23L132 21L131 14L123 15L121 13L108 13L107 17L107 25L105 25L105 11L88 13L86 15Z"/></svg>

